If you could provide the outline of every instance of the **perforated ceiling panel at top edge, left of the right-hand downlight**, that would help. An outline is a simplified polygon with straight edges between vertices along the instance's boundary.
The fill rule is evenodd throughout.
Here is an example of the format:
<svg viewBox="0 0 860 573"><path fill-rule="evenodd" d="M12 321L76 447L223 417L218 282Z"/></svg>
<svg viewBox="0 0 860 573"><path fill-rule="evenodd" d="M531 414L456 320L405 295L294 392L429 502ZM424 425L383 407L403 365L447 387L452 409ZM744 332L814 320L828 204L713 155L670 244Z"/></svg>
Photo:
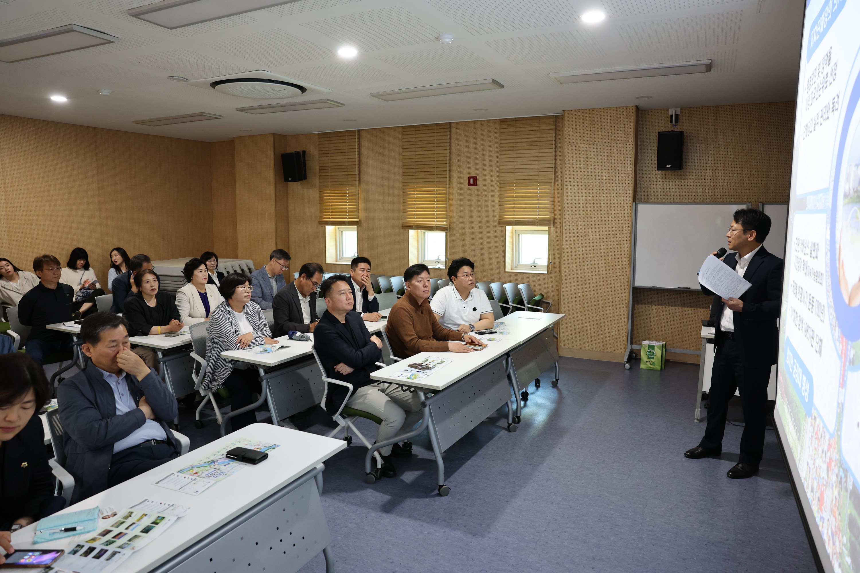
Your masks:
<svg viewBox="0 0 860 573"><path fill-rule="evenodd" d="M427 0L470 34L498 34L577 21L568 0Z"/></svg>

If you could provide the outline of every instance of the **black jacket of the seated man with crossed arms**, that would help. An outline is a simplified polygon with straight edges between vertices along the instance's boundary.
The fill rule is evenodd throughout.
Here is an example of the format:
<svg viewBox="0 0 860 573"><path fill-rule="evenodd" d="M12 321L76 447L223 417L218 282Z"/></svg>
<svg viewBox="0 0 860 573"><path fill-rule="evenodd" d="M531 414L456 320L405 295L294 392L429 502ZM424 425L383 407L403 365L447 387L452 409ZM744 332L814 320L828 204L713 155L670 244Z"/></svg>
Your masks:
<svg viewBox="0 0 860 573"><path fill-rule="evenodd" d="M322 318L314 328L314 348L320 357L322 367L329 378L342 380L353 385L353 393L360 387L374 383L370 374L377 369L376 363L382 362L382 351L372 342L371 333L367 331L364 320L358 313L347 313L347 329L352 332L349 336L344 332L341 321L329 311L322 313ZM335 370L335 364L344 363L353 371L342 375ZM347 387L331 385L329 387L326 410L334 413L341 406L347 395ZM333 406L335 410L331 410Z"/></svg>

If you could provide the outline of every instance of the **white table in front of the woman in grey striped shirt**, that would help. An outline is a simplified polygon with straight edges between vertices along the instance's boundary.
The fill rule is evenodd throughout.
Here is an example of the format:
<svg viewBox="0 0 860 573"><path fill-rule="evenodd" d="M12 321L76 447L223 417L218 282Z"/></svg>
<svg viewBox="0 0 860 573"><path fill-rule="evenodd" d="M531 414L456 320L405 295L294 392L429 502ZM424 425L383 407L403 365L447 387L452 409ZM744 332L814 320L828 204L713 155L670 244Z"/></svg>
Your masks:
<svg viewBox="0 0 860 573"><path fill-rule="evenodd" d="M390 309L382 311L388 312ZM380 332L385 327L385 320L368 322L365 326L371 333ZM308 332L310 341L284 340L286 348L279 348L268 354L255 354L254 349L244 351L224 351L221 356L243 363L253 364L260 373L260 399L254 404L231 411L221 422L221 435L226 433L227 420L246 411L253 411L263 402L267 402L272 424L289 418L293 414L307 410L322 401L325 393L325 382L322 372L316 366L313 354L313 332ZM303 360L304 358L304 360Z"/></svg>

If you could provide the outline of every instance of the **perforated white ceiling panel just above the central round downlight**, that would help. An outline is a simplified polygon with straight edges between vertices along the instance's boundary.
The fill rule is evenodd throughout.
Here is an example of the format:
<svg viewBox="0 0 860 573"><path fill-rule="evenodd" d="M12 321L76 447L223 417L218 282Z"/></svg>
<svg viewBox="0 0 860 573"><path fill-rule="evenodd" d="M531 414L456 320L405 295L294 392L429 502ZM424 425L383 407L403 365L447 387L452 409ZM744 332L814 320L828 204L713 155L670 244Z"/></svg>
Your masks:
<svg viewBox="0 0 860 573"><path fill-rule="evenodd" d="M372 52L433 42L439 30L400 6L310 21L302 26L360 51Z"/></svg>

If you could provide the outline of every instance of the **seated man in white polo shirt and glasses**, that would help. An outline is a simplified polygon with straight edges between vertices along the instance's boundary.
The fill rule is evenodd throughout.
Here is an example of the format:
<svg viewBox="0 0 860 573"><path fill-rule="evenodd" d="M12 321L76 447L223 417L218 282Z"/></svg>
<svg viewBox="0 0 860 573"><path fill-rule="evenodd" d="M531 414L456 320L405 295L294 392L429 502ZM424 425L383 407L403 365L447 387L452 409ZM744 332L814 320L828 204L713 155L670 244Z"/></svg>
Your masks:
<svg viewBox="0 0 860 573"><path fill-rule="evenodd" d="M430 301L430 308L439 317L439 324L460 332L475 332L492 328L493 308L483 290L475 288L475 263L461 257L448 267L451 284L439 289Z"/></svg>

